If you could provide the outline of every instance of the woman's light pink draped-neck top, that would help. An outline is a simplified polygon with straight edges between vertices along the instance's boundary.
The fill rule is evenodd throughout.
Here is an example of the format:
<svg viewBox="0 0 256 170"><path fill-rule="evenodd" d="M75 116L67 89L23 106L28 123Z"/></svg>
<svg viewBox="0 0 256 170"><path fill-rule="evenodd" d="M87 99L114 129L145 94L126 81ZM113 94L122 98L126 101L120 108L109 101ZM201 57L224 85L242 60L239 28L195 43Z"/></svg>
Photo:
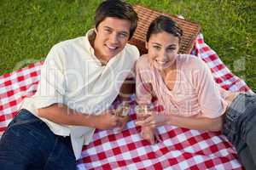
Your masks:
<svg viewBox="0 0 256 170"><path fill-rule="evenodd" d="M228 106L230 92L220 88L206 63L193 55L177 54L177 77L172 90L150 65L147 54L137 60L136 71L139 105L150 104L155 96L166 114L211 118L223 115Z"/></svg>

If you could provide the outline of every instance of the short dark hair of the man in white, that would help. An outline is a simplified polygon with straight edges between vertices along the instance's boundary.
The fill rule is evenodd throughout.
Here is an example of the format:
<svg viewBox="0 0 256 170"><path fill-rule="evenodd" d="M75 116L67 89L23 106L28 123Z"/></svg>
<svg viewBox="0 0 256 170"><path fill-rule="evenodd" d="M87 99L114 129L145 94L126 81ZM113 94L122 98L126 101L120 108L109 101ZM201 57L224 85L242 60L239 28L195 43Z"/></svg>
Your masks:
<svg viewBox="0 0 256 170"><path fill-rule="evenodd" d="M107 0L102 2L96 9L96 29L107 17L116 17L122 20L129 20L131 22L129 40L131 39L137 28L137 13L134 11L131 4L125 3L121 0Z"/></svg>

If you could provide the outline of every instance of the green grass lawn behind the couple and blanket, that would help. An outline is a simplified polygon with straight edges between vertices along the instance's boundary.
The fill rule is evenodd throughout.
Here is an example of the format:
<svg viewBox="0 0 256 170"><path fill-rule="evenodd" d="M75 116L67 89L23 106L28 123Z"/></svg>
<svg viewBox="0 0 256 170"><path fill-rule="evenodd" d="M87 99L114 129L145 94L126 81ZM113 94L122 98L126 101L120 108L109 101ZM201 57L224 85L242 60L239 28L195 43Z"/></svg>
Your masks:
<svg viewBox="0 0 256 170"><path fill-rule="evenodd" d="M0 0L0 75L44 59L56 43L93 27L101 1ZM201 25L205 41L256 92L256 3L253 0L128 0Z"/></svg>

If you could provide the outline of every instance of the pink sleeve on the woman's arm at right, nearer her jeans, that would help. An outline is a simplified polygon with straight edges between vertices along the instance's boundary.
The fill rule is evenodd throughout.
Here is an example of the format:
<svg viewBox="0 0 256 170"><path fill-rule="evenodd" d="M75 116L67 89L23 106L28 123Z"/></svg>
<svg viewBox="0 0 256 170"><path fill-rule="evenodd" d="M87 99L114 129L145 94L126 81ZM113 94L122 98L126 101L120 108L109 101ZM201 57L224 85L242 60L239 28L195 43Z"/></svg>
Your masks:
<svg viewBox="0 0 256 170"><path fill-rule="evenodd" d="M201 107L201 116L215 118L224 114L223 99L207 65L198 60L195 62L194 81Z"/></svg>

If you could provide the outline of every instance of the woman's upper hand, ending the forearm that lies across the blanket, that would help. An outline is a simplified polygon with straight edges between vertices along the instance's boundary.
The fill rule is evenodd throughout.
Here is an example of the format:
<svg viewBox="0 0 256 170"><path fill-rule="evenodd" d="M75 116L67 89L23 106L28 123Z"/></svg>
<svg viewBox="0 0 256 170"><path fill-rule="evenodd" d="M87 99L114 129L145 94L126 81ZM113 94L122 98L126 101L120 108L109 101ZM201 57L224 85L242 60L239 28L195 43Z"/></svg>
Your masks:
<svg viewBox="0 0 256 170"><path fill-rule="evenodd" d="M136 122L138 126L142 127L159 127L169 122L169 116L149 111L146 114L141 114L139 121Z"/></svg>

